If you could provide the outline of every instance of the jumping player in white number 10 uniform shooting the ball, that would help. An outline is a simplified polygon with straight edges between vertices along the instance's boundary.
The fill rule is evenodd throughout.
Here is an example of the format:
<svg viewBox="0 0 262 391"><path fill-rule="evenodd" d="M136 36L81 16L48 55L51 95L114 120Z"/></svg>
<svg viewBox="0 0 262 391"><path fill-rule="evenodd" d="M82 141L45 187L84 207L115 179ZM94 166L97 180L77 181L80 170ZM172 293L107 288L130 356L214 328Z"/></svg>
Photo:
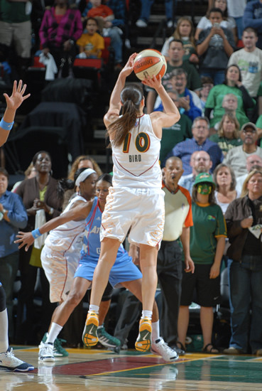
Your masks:
<svg viewBox="0 0 262 391"><path fill-rule="evenodd" d="M143 311L136 341L136 349L143 352L151 349L151 317L158 279L156 262L165 215L158 164L160 139L162 128L178 122L180 114L161 80L155 77L146 79L143 84L155 89L165 112L143 114L145 100L141 85L125 87L135 57L136 53L133 53L121 70L111 94L109 111L104 116L113 151L114 176L102 215L101 254L94 272L84 340L88 346L94 346L98 341L98 311L103 289L119 245L130 229L129 242L140 247L143 274ZM121 106L122 115L119 117Z"/></svg>

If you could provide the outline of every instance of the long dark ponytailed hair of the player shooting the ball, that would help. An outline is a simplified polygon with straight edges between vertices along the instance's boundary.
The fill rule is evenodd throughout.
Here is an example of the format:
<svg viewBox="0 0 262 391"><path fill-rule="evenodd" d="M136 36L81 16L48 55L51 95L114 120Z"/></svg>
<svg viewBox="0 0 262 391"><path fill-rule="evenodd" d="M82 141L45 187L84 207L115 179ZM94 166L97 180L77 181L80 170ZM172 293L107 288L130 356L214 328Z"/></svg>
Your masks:
<svg viewBox="0 0 262 391"><path fill-rule="evenodd" d="M140 104L143 100L143 88L136 83L130 83L121 91L121 102L123 104L122 115L109 125L108 131L114 132L114 146L120 146L126 134L136 124L136 118L140 112Z"/></svg>

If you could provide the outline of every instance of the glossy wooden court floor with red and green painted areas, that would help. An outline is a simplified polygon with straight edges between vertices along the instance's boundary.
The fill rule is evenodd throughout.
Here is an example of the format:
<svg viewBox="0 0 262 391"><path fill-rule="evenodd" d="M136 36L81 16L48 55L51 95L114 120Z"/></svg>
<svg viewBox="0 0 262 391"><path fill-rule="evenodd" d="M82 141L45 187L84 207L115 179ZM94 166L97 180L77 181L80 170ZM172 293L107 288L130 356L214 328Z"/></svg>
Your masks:
<svg viewBox="0 0 262 391"><path fill-rule="evenodd" d="M1 391L261 391L262 358L254 355L187 353L165 363L151 353L67 349L55 363L38 363L38 348L16 347L30 373L0 370Z"/></svg>

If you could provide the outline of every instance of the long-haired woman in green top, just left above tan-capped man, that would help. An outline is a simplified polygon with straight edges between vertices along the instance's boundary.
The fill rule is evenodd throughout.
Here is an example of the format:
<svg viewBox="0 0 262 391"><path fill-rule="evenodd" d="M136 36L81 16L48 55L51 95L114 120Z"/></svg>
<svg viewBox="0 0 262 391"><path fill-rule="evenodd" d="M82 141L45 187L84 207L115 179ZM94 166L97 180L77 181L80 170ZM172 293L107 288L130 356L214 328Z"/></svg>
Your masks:
<svg viewBox="0 0 262 391"><path fill-rule="evenodd" d="M239 122L234 114L224 114L219 122L217 134L212 134L209 139L219 145L224 156L226 156L229 149L242 145L243 142L239 137Z"/></svg>

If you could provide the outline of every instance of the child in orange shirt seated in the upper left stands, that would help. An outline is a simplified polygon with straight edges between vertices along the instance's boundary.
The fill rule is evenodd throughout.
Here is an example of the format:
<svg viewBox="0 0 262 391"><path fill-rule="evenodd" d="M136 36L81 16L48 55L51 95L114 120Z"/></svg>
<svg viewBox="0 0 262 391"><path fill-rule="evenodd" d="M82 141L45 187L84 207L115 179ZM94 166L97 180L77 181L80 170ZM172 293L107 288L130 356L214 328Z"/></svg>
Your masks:
<svg viewBox="0 0 262 391"><path fill-rule="evenodd" d="M86 33L77 40L80 49L78 58L100 58L104 49L104 38L97 33L98 23L95 18L87 18Z"/></svg>

